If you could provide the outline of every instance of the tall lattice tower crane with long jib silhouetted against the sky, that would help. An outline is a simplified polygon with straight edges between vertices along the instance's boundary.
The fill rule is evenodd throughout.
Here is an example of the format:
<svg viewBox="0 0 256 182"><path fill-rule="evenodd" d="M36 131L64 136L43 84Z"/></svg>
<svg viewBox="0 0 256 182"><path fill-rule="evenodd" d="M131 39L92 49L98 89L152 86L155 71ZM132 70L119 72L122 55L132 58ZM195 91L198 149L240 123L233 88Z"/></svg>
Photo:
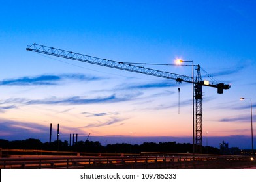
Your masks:
<svg viewBox="0 0 256 182"><path fill-rule="evenodd" d="M77 60L80 62L86 62L90 64L97 64L99 66L106 66L109 68L116 68L119 70L125 70L129 72L136 72L136 73L142 73L146 75L152 75L155 77L162 77L165 79L172 79L175 80L178 83L185 82L185 83L192 83L194 84L195 90L195 116L196 116L196 122L195 122L195 144L201 148L202 146L202 86L209 86L213 88L217 88L218 94L223 94L223 90L227 90L231 88L230 85L224 84L224 83L214 83L214 82L205 82L202 81L201 73L200 73L200 65L197 65L197 75L195 78L185 76L185 75L179 75L176 73L170 73L170 72L163 72L161 70L155 70L152 68L145 68L142 66L136 66L134 64L129 64L127 62L117 62L114 60L107 60L107 59L101 59L98 57L92 57L89 55L83 55L80 53L74 53L72 51L65 51L62 49L56 49L54 47L47 47L44 45L39 44L32 44L27 45L27 51L34 51L37 53L42 53L46 55L56 56L56 57L62 57L65 59L71 59L71 60ZM194 140L194 138L193 138ZM194 143L194 141L193 141Z"/></svg>

